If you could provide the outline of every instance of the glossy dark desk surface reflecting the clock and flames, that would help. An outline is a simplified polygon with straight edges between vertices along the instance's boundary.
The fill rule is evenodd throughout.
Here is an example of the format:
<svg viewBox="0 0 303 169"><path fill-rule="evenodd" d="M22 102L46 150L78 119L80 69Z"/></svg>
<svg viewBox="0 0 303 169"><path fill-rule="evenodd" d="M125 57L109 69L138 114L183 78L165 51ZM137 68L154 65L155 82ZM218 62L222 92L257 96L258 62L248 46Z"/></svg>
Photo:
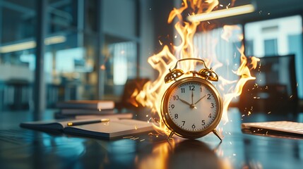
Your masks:
<svg viewBox="0 0 303 169"><path fill-rule="evenodd" d="M275 120L275 115L242 117L229 112L220 124L225 139L214 134L189 140L153 134L112 141L49 134L18 127L30 113L0 112L0 168L302 168L303 139L243 134L243 121ZM52 118L46 112L44 118ZM278 119L280 120L280 119ZM297 117L302 121L302 115Z"/></svg>

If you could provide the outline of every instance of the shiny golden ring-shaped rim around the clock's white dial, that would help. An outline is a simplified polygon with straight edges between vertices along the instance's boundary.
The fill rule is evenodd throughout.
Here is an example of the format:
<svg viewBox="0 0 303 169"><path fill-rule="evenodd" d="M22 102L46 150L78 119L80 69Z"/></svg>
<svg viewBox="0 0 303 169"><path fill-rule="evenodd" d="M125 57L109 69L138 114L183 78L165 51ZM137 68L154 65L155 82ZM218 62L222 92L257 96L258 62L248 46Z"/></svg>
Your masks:
<svg viewBox="0 0 303 169"><path fill-rule="evenodd" d="M212 90L212 92L215 94L215 96L214 96L215 101L217 101L217 103L218 103L217 115L215 117L215 120L213 120L213 123L211 123L204 130L200 130L200 131L184 130L174 123L174 121L172 120L172 118L170 118L170 115L168 113L169 111L168 111L167 104L168 104L170 94L172 93L172 91L174 90L175 87L178 87L179 85L184 84L185 82L201 82L201 83L205 84L206 87L209 87L209 89ZM165 123L165 125L171 131L173 131L174 134L177 134L179 137L184 137L184 138L188 138L188 139L196 139L199 137L203 137L210 132L213 132L213 130L215 130L215 127L217 127L218 124L220 123L220 120L222 118L222 99L221 99L220 93L218 92L218 89L216 89L213 84L208 82L208 80L204 80L201 77L184 77L183 79L177 80L176 82L171 84L170 87L168 87L167 90L165 91L165 94L163 94L162 101L161 101L161 116L162 116L162 120Z"/></svg>

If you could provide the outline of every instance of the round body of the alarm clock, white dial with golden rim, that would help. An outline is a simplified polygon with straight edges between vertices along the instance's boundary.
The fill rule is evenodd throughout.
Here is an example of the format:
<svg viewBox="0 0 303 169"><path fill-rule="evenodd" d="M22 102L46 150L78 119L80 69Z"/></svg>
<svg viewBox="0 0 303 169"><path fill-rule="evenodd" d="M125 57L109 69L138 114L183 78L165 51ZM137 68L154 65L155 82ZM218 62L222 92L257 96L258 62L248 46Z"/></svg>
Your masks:
<svg viewBox="0 0 303 169"><path fill-rule="evenodd" d="M167 90L163 99L165 121L171 130L181 136L189 132L202 132L203 136L220 122L220 95L207 80L198 77L178 80Z"/></svg>

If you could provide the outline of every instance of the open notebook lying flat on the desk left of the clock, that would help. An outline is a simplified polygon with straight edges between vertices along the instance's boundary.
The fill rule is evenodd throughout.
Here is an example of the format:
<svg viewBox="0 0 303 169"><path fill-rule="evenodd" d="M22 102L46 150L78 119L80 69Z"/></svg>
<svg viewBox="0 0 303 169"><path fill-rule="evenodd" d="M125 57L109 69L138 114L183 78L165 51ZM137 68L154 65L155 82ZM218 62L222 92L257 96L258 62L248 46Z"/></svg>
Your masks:
<svg viewBox="0 0 303 169"><path fill-rule="evenodd" d="M89 119L90 121L100 119ZM103 119L104 120L104 119ZM102 123L91 123L85 125L71 125L88 122L85 120L52 120L52 121L35 121L20 123L20 127L45 130L45 131L60 131L66 134L76 134L85 137L97 137L103 139L113 139L124 137L131 134L142 132L150 132L153 130L152 123L133 119L118 119L111 118Z"/></svg>

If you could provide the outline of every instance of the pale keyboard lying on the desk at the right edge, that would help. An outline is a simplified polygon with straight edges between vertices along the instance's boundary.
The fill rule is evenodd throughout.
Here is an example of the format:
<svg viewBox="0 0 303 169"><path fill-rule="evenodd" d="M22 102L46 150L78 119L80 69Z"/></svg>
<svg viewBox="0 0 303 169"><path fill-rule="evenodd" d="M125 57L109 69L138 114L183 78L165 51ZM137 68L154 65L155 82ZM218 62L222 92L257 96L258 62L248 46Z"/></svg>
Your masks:
<svg viewBox="0 0 303 169"><path fill-rule="evenodd" d="M280 132L284 134L299 134L303 136L303 123L292 121L272 121L257 123L242 123L242 130L251 130L251 132Z"/></svg>

